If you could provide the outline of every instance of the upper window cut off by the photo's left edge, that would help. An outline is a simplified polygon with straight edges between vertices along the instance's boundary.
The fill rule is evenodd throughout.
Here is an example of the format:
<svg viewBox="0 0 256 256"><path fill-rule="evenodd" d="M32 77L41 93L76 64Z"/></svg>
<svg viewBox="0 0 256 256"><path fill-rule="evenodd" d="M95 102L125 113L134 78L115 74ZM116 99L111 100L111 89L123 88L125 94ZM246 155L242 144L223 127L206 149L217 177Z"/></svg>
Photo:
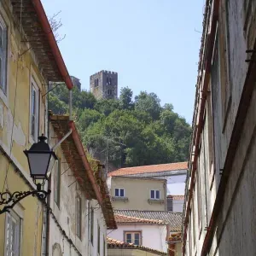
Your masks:
<svg viewBox="0 0 256 256"><path fill-rule="evenodd" d="M0 88L6 95L7 78L7 29L0 17Z"/></svg>

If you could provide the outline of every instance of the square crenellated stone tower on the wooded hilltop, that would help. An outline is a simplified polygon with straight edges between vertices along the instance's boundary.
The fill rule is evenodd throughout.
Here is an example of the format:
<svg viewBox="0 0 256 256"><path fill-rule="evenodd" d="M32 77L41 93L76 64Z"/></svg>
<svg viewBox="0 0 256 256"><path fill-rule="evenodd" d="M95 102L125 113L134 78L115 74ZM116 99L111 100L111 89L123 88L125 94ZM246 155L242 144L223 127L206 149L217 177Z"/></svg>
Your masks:
<svg viewBox="0 0 256 256"><path fill-rule="evenodd" d="M117 99L118 73L102 70L91 75L90 92L96 99Z"/></svg>

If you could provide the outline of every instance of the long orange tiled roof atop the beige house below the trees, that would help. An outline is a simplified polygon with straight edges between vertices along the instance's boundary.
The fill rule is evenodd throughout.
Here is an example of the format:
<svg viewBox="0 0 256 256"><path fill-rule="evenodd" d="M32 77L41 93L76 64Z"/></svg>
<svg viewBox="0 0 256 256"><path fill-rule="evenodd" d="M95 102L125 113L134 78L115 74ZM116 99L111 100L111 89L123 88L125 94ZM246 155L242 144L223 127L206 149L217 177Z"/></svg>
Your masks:
<svg viewBox="0 0 256 256"><path fill-rule="evenodd" d="M153 165L153 166L135 166L128 168L120 168L114 172L109 172L108 176L125 176L139 173L151 173L151 172L168 172L177 170L188 169L188 162L163 164L163 165Z"/></svg>

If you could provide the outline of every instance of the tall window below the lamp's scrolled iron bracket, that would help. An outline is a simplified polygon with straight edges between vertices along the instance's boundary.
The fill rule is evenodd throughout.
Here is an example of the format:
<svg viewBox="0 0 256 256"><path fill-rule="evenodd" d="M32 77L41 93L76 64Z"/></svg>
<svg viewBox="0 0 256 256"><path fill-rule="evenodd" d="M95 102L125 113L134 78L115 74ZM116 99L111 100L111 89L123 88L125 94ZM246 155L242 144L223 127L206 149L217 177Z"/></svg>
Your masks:
<svg viewBox="0 0 256 256"><path fill-rule="evenodd" d="M21 218L15 212L6 213L5 256L20 256Z"/></svg>

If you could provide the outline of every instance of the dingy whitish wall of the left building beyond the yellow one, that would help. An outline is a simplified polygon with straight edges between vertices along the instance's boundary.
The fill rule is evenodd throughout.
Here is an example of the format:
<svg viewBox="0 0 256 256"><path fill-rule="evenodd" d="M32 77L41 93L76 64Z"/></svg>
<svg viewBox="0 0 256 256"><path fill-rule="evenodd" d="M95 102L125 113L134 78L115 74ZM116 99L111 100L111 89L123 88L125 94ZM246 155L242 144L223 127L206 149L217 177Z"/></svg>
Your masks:
<svg viewBox="0 0 256 256"><path fill-rule="evenodd" d="M56 137L50 129L50 137ZM53 146L53 142L50 146ZM106 256L104 255L104 240L107 237L107 228L105 219L102 215L102 208L99 206L96 200L86 200L84 192L79 189L78 183L73 183L75 177L71 169L67 171L69 166L64 155L61 154L61 147L57 149L58 157L61 157L61 189L60 189L60 207L55 202L55 166L51 169L51 181L50 181L50 207L52 213L49 214L49 256ZM67 171L67 172L65 172ZM81 227L81 239L76 235L76 196L80 196L82 201L82 227ZM90 207L88 205L90 204ZM90 210L94 209L94 241L93 245L90 241ZM58 224L60 227L58 226ZM100 226L100 234L98 234L98 224ZM45 224L44 224L45 230ZM61 230L65 231L73 246L67 241L67 238L63 236ZM100 236L100 253L98 253L98 236ZM43 239L44 240L44 239ZM79 251L79 253L75 250ZM107 252L107 242L105 242L105 252Z"/></svg>

